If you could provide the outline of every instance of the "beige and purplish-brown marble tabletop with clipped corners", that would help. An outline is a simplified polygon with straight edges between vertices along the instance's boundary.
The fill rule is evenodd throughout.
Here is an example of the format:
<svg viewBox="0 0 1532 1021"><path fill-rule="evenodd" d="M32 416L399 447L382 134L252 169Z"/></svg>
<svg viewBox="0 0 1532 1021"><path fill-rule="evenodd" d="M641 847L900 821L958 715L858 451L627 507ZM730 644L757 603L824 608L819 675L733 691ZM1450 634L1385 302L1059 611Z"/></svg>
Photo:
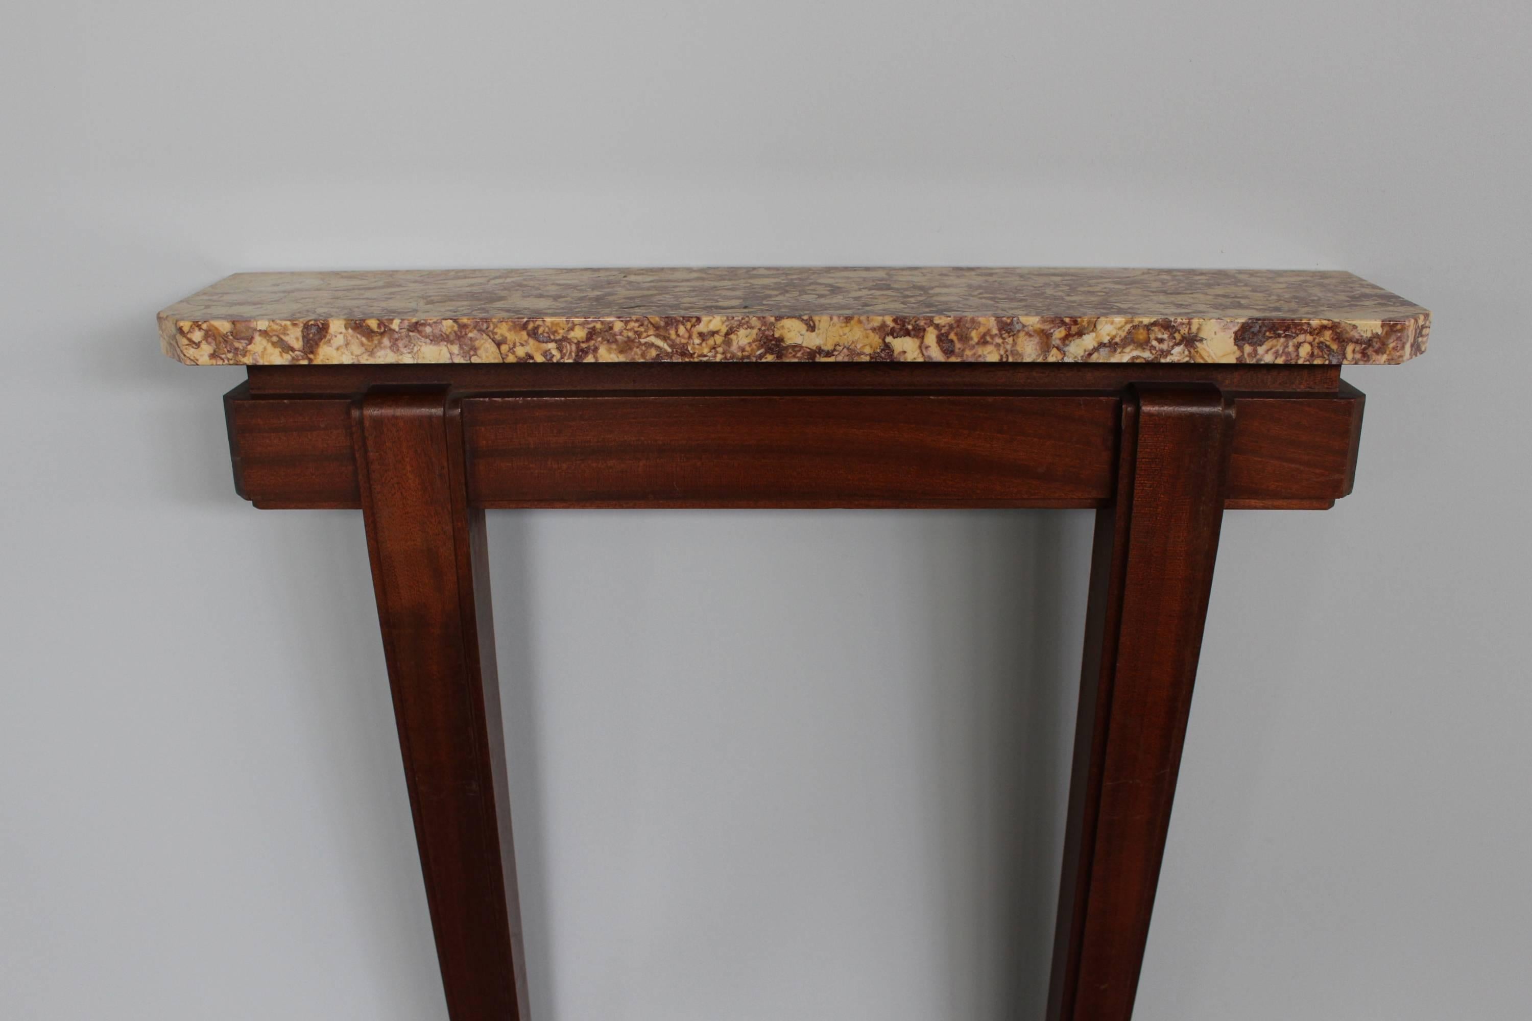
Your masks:
<svg viewBox="0 0 1532 1021"><path fill-rule="evenodd" d="M1385 364L1431 314L1302 269L241 272L159 314L187 364L1206 361Z"/></svg>

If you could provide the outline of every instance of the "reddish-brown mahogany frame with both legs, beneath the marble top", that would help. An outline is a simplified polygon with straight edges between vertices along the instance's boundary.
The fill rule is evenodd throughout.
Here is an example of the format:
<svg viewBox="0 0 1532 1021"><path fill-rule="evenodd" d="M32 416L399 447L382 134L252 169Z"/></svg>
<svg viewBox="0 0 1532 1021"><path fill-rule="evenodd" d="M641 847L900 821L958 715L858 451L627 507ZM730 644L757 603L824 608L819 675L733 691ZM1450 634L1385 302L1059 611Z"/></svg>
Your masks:
<svg viewBox="0 0 1532 1021"><path fill-rule="evenodd" d="M1048 1021L1128 1021L1227 508L1351 491L1334 366L251 366L256 507L360 508L447 1010L529 1021L493 507L1092 507Z"/></svg>

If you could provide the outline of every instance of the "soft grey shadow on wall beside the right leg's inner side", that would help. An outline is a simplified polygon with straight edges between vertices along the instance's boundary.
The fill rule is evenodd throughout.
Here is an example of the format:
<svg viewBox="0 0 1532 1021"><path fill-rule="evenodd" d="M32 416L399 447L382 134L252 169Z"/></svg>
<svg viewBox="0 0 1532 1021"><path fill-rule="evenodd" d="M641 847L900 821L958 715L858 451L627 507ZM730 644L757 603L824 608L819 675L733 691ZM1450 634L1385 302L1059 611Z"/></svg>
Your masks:
<svg viewBox="0 0 1532 1021"><path fill-rule="evenodd" d="M971 990L950 1016L1031 1021L1046 1009L1089 527L1089 514L1000 511L962 536L958 577L933 579L931 591L976 592L930 664L950 807L945 978Z"/></svg>

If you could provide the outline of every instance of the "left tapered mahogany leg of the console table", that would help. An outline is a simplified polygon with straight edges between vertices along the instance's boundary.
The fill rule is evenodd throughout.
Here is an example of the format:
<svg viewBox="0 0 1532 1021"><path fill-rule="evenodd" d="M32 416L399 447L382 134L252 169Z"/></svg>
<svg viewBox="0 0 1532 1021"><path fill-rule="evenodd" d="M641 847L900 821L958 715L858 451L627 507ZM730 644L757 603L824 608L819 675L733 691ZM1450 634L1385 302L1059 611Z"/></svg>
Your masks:
<svg viewBox="0 0 1532 1021"><path fill-rule="evenodd" d="M369 392L362 510L452 1021L527 1021L484 551L444 390Z"/></svg>

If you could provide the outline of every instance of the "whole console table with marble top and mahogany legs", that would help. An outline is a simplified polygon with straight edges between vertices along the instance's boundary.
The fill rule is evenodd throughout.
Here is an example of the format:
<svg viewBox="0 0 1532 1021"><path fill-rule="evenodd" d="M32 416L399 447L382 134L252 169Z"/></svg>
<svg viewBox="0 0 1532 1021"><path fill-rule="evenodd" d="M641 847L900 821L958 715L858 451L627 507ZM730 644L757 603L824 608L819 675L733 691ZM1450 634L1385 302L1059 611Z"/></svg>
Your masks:
<svg viewBox="0 0 1532 1021"><path fill-rule="evenodd" d="M1348 272L251 272L159 314L256 507L360 508L453 1021L527 1021L484 508L1091 507L1049 1021L1126 1021L1224 510L1351 490Z"/></svg>

